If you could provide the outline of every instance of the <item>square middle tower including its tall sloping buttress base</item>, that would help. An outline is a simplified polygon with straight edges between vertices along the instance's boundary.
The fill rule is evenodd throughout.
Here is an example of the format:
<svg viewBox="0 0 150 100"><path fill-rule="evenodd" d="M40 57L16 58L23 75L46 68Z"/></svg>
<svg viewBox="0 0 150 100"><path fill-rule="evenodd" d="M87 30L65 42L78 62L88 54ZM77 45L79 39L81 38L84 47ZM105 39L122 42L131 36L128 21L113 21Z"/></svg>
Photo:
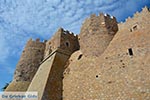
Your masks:
<svg viewBox="0 0 150 100"><path fill-rule="evenodd" d="M38 91L39 100L62 100L65 65L70 55L79 48L78 36L60 28L47 41L45 58L28 91Z"/></svg>

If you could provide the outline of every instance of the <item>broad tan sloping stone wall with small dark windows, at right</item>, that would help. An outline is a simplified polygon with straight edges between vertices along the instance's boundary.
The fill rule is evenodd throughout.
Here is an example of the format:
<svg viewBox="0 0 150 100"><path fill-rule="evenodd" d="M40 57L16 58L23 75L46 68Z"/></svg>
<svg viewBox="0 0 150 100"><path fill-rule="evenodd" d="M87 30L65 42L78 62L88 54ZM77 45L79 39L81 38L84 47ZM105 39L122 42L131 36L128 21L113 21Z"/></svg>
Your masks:
<svg viewBox="0 0 150 100"><path fill-rule="evenodd" d="M149 100L149 18L150 12L144 9L119 25L119 31L97 58L83 55L77 60L79 54L75 52L63 80L63 100ZM137 29L130 32L135 24Z"/></svg>

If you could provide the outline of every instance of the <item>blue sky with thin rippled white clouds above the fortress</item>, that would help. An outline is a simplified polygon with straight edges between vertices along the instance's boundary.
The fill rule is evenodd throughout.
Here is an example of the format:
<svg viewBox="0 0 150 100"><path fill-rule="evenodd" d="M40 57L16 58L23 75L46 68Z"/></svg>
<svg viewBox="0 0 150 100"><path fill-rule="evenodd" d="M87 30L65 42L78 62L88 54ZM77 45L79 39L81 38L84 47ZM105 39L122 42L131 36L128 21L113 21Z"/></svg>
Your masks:
<svg viewBox="0 0 150 100"><path fill-rule="evenodd" d="M0 89L13 78L29 38L49 39L59 27L76 34L92 13L108 13L124 21L149 0L0 0Z"/></svg>

